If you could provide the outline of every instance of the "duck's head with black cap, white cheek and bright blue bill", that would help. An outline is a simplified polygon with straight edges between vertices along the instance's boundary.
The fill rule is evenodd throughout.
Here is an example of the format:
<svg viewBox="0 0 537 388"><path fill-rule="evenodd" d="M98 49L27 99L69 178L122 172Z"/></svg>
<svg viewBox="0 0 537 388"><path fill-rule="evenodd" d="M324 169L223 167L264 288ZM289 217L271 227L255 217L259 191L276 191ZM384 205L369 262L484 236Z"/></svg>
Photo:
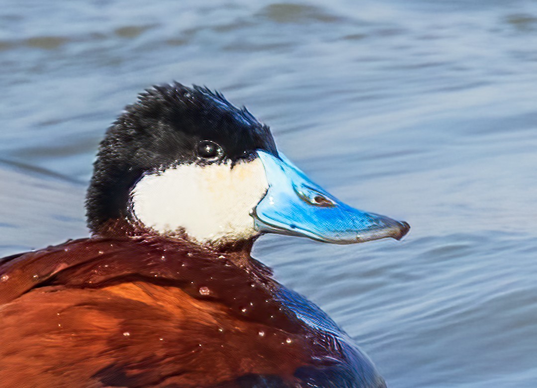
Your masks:
<svg viewBox="0 0 537 388"><path fill-rule="evenodd" d="M141 94L108 129L94 167L86 209L95 234L119 222L131 234L223 246L267 232L348 244L409 230L330 195L278 152L269 127L197 86Z"/></svg>

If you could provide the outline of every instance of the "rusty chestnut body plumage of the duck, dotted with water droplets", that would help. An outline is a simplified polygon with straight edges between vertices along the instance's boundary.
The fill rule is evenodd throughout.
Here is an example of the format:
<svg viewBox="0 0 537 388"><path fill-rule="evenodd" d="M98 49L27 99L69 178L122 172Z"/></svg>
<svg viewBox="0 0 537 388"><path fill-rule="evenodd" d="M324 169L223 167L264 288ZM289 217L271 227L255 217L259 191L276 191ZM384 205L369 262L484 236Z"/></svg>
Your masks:
<svg viewBox="0 0 537 388"><path fill-rule="evenodd" d="M314 344L244 255L93 238L4 262L0 381L212 387L274 375L293 386Z"/></svg>

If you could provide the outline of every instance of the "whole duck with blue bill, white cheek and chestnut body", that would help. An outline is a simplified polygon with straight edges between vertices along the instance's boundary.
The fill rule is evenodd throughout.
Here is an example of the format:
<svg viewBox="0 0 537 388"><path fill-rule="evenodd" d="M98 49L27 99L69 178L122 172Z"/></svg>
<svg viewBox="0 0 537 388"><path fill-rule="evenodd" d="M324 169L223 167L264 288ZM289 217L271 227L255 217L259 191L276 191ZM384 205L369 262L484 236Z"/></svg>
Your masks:
<svg viewBox="0 0 537 388"><path fill-rule="evenodd" d="M226 175L234 167L235 175ZM282 199L288 195L274 183L281 180L274 171L286 168L297 176L293 187L304 187L295 189L291 208L285 201L295 199ZM192 171L221 179L216 186L255 188L244 195L249 202L237 199L248 217L222 220L226 212L213 209L214 220L198 222L186 209L178 213L186 221L170 225L151 213L148 196L175 190L162 184L170 179L194 191L173 192L170 203L159 197L166 212L177 196L194 208L230 203L209 196L205 178ZM259 171L266 175L248 184ZM211 204L195 203L200 196ZM273 212L265 200L287 210ZM0 261L0 381L43 388L384 387L325 313L250 256L264 232L349 243L408 231L404 222L352 211L280 156L268 128L245 109L203 88L151 89L101 143L88 196L92 238ZM339 229L318 230L330 217ZM340 226L342 217L350 226Z"/></svg>

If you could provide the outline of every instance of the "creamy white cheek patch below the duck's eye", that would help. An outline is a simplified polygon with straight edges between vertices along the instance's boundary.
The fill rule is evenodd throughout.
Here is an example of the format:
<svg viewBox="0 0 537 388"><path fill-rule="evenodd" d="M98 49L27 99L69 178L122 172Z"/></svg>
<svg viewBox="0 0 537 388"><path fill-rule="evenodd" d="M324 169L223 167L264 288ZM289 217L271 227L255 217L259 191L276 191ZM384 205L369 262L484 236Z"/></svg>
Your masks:
<svg viewBox="0 0 537 388"><path fill-rule="evenodd" d="M269 184L258 159L231 164L180 164L146 175L132 190L135 217L159 233L181 229L197 242L228 242L257 234L250 211Z"/></svg>

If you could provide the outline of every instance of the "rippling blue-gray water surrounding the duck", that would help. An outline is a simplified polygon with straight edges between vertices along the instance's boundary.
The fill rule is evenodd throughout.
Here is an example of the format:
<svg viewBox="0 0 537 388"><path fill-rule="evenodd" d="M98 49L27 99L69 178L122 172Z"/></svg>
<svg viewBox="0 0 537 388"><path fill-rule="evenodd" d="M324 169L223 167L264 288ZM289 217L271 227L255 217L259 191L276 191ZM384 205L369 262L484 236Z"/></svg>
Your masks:
<svg viewBox="0 0 537 388"><path fill-rule="evenodd" d="M537 386L537 2L4 0L0 254L87 234L105 128L137 92L219 89L402 242L266 236L391 388Z"/></svg>

